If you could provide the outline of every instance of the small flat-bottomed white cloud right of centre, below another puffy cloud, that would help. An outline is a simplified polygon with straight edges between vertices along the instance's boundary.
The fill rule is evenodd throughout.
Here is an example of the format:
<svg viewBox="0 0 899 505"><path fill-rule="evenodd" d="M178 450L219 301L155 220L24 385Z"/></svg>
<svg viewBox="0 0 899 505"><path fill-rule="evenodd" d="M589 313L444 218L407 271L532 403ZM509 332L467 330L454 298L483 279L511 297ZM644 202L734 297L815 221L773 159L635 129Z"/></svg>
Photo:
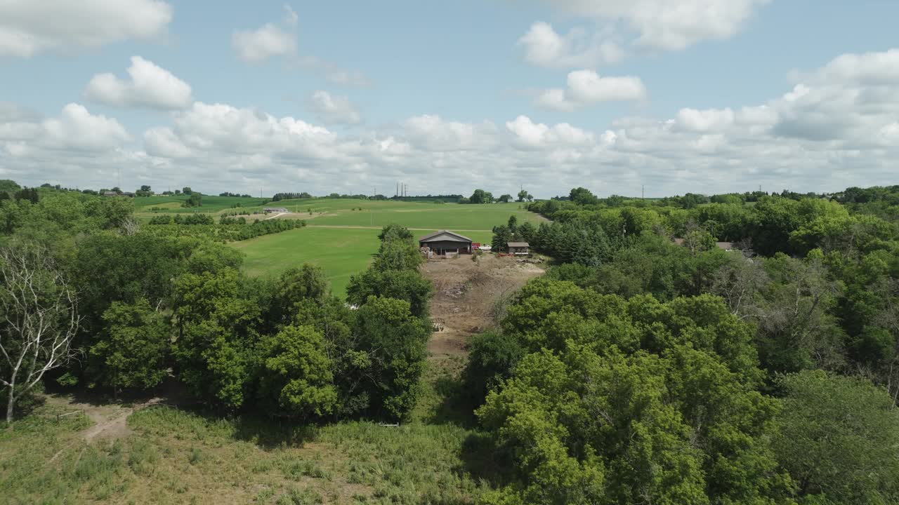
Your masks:
<svg viewBox="0 0 899 505"><path fill-rule="evenodd" d="M555 111L574 111L599 102L642 102L646 88L639 77L601 77L592 70L568 74L565 89L540 93L536 104Z"/></svg>

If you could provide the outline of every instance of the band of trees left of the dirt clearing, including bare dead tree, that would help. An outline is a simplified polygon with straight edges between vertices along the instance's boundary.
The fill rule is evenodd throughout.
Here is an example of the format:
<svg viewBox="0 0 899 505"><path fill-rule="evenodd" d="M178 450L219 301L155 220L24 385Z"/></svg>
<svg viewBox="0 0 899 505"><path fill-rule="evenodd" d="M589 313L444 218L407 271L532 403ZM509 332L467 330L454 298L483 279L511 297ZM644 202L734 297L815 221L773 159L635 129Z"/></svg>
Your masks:
<svg viewBox="0 0 899 505"><path fill-rule="evenodd" d="M7 420L46 381L120 394L176 380L222 412L306 421L396 420L412 408L432 288L408 230L384 229L350 306L316 267L246 276L242 254L202 231L301 222L195 215L139 228L131 205L55 190L0 202L12 224L0 244Z"/></svg>

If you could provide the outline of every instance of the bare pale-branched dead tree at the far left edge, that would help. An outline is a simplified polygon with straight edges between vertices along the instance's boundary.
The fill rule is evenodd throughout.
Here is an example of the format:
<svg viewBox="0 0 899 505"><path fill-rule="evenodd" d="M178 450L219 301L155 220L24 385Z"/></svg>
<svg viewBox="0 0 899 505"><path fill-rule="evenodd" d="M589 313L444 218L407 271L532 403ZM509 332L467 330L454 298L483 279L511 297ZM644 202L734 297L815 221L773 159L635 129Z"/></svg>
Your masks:
<svg viewBox="0 0 899 505"><path fill-rule="evenodd" d="M46 249L33 244L0 248L0 384L6 389L6 422L15 403L49 370L74 358L81 317L76 293Z"/></svg>

